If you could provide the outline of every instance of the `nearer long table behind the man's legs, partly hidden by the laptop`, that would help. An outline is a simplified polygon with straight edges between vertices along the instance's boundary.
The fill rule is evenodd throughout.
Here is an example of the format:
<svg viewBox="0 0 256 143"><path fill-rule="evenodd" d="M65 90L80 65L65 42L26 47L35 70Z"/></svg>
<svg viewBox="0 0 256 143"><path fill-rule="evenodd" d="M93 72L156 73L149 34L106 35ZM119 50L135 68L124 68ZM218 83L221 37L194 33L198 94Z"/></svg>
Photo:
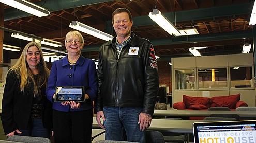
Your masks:
<svg viewBox="0 0 256 143"><path fill-rule="evenodd" d="M152 119L148 130L175 132L175 133L193 133L194 122L211 122L211 120L172 120L172 119ZM93 118L93 129L101 129Z"/></svg>

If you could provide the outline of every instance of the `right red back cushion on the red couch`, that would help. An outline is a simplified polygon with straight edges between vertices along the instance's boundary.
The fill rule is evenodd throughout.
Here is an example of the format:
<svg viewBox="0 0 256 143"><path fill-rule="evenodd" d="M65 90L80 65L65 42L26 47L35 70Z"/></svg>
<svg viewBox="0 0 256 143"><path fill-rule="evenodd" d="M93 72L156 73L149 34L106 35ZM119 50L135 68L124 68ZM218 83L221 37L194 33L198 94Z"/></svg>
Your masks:
<svg viewBox="0 0 256 143"><path fill-rule="evenodd" d="M228 96L216 96L210 98L212 104L211 107L229 107L235 109L235 105L240 101L240 94L228 95Z"/></svg>

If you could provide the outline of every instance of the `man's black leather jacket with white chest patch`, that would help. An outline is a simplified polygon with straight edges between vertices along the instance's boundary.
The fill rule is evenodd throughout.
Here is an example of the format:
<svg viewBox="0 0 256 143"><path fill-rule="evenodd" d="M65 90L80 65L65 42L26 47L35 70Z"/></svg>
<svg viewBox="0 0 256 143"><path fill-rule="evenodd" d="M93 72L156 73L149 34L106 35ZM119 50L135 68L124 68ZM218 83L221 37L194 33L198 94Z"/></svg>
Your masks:
<svg viewBox="0 0 256 143"><path fill-rule="evenodd" d="M95 113L103 111L103 106L142 107L143 113L154 113L159 87L155 51L148 40L131 34L119 60L116 37L99 48Z"/></svg>

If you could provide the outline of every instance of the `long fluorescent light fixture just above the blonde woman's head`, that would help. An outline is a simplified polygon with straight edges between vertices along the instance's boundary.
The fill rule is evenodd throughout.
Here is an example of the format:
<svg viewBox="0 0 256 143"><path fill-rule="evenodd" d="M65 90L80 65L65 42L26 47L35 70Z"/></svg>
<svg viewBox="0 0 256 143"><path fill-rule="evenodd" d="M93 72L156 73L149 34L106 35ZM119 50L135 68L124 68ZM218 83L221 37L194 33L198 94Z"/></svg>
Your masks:
<svg viewBox="0 0 256 143"><path fill-rule="evenodd" d="M41 38L41 40L39 40L39 39L33 38L33 35L31 37L28 37L26 35L22 35L19 33L11 33L11 37L23 39L26 41L35 41L36 43L41 42L41 44L53 46L53 47L61 47L62 46L61 42L53 41L53 40L46 39L46 38Z"/></svg>

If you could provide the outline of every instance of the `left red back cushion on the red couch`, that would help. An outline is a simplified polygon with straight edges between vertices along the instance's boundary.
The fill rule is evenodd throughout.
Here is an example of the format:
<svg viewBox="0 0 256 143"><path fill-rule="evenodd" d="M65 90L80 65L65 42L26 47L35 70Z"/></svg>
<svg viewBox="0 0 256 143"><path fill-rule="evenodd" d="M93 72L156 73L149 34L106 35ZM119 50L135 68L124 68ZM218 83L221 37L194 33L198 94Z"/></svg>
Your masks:
<svg viewBox="0 0 256 143"><path fill-rule="evenodd" d="M199 104L206 106L206 108L209 108L210 98L183 95L183 103L186 105L186 108L190 108L191 105L199 105Z"/></svg>

